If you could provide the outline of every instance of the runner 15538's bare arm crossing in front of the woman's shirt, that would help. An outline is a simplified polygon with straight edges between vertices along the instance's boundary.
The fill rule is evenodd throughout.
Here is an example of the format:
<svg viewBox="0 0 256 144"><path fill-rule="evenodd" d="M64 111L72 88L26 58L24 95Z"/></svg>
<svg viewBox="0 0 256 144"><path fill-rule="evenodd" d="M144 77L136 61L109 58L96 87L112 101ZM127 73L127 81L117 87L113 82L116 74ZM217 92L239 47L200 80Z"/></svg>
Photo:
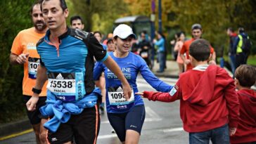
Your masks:
<svg viewBox="0 0 256 144"><path fill-rule="evenodd" d="M115 61L109 56L104 62L106 67L108 67L111 72L113 72L118 79L122 82L122 88L124 90L124 96L126 100L129 100L132 94L131 86L129 85L127 79L125 79L124 74L120 70L120 67L115 63Z"/></svg>

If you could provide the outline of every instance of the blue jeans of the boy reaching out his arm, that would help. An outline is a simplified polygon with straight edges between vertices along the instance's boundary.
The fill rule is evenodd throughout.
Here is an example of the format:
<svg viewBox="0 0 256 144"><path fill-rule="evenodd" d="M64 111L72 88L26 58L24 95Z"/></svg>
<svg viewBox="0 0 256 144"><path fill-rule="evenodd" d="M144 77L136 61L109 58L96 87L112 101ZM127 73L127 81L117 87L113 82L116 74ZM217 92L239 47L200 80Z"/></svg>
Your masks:
<svg viewBox="0 0 256 144"><path fill-rule="evenodd" d="M189 133L189 144L229 144L229 126L225 124L216 129Z"/></svg>

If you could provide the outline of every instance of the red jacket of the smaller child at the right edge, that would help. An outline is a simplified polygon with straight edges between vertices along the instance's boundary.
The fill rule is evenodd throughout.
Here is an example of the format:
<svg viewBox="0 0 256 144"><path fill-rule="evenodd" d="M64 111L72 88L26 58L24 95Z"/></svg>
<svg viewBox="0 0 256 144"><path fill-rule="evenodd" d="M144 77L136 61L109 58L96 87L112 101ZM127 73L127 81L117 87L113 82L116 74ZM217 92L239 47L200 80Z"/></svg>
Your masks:
<svg viewBox="0 0 256 144"><path fill-rule="evenodd" d="M249 143L256 141L256 92L252 89L238 91L240 102L240 121L231 143Z"/></svg>

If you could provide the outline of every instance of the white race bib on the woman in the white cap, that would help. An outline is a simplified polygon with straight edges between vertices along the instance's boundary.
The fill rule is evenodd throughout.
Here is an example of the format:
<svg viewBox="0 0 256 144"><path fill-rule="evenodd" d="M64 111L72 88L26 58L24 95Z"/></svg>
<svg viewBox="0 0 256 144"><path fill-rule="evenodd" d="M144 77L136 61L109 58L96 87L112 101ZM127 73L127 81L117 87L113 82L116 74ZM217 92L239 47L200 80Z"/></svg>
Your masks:
<svg viewBox="0 0 256 144"><path fill-rule="evenodd" d="M108 100L110 105L117 105L118 107L122 107L122 105L129 105L130 103L134 103L133 91L131 98L129 98L128 101L125 100L123 93L124 91L122 90L122 86L108 87Z"/></svg>

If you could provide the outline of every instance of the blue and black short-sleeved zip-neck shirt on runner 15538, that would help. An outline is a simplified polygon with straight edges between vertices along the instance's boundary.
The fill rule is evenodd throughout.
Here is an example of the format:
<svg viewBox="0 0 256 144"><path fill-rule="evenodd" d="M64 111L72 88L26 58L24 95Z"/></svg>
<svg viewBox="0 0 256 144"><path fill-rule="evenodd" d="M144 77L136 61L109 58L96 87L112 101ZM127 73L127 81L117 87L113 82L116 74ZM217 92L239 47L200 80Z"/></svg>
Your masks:
<svg viewBox="0 0 256 144"><path fill-rule="evenodd" d="M59 48L49 40L50 31L37 43L40 63L46 67L48 90L65 101L82 99L94 86L94 57L98 61L108 58L108 53L93 34L81 30L68 31L58 37ZM59 93L59 94L58 94Z"/></svg>

